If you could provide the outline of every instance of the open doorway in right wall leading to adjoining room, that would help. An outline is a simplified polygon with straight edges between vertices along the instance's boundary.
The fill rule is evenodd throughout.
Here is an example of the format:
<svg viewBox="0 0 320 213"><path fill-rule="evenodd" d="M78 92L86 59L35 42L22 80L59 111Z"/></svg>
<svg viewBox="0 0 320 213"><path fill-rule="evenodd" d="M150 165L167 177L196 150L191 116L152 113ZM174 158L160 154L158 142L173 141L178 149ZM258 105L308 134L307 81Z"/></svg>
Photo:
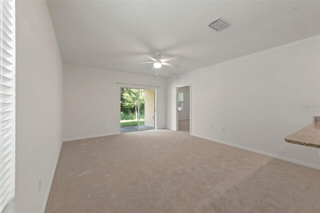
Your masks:
<svg viewBox="0 0 320 213"><path fill-rule="evenodd" d="M191 92L190 84L176 87L176 130L191 134Z"/></svg>

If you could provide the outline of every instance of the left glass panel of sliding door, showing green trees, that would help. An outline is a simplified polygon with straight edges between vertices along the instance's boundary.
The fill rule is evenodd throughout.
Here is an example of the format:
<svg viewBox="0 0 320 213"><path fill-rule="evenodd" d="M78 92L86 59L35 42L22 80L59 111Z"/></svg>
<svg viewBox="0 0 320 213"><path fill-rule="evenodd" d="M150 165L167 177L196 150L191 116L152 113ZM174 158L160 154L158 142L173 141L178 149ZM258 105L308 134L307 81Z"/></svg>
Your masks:
<svg viewBox="0 0 320 213"><path fill-rule="evenodd" d="M120 95L120 131L138 130L138 89L121 88Z"/></svg>

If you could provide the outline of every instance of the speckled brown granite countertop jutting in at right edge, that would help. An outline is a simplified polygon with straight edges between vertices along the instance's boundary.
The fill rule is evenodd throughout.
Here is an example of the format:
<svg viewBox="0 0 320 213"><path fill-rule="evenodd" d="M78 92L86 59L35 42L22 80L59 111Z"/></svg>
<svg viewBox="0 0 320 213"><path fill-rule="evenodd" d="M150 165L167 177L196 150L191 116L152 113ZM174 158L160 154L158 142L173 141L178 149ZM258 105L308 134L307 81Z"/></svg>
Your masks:
<svg viewBox="0 0 320 213"><path fill-rule="evenodd" d="M284 141L291 144L320 148L320 121L317 118L315 118L313 124L289 135Z"/></svg>

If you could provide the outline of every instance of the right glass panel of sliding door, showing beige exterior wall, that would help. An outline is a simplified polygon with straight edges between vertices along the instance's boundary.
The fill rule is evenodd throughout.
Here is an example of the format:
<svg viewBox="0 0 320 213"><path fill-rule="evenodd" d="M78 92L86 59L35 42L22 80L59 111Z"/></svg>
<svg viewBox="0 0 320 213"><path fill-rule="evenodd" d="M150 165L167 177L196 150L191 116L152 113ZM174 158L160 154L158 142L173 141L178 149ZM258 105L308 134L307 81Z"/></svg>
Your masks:
<svg viewBox="0 0 320 213"><path fill-rule="evenodd" d="M154 129L154 90L140 89L139 130Z"/></svg>

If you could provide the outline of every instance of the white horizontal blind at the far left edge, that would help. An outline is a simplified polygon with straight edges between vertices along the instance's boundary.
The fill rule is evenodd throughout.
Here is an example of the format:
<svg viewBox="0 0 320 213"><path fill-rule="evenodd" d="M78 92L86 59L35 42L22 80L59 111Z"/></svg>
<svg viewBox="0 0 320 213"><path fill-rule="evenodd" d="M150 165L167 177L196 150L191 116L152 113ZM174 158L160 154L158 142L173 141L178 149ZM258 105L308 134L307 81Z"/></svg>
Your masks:
<svg viewBox="0 0 320 213"><path fill-rule="evenodd" d="M15 8L0 0L0 213L14 197Z"/></svg>

